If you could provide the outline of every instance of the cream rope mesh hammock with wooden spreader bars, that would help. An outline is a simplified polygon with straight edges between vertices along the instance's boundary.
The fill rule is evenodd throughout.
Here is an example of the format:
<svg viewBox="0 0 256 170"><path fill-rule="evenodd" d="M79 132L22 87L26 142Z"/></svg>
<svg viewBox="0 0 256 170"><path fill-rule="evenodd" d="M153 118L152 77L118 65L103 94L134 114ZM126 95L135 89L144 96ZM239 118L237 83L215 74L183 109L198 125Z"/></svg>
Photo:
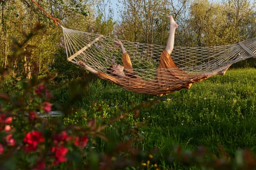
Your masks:
<svg viewBox="0 0 256 170"><path fill-rule="evenodd" d="M62 26L61 26L62 27ZM68 60L81 67L89 66L98 76L141 94L165 95L213 75L223 75L234 63L256 57L256 37L233 45L217 47L175 47L171 54L172 67L159 66L165 46L122 40L130 56L132 70L124 77L113 76L108 69L123 65L122 51L115 38L62 27ZM161 59L162 60L162 59ZM82 62L83 65L79 63ZM163 62L163 63L161 63ZM160 64L159 64L160 63ZM133 76L128 74L132 72Z"/></svg>

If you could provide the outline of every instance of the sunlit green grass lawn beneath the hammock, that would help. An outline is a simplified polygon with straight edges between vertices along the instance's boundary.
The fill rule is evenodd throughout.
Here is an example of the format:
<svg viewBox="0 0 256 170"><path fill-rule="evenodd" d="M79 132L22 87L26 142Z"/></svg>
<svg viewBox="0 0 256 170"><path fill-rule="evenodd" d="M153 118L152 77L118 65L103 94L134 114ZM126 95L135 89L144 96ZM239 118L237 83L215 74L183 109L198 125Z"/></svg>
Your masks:
<svg viewBox="0 0 256 170"><path fill-rule="evenodd" d="M62 103L69 98L68 94L65 89L55 91ZM192 151L197 146L205 146L216 155L220 154L219 146L231 156L239 148L256 153L255 68L230 69L224 76L217 75L192 85L189 90L163 97L134 94L99 79L89 83L83 95L72 103L78 108L77 114L85 114L86 119L104 118L107 124L113 125L106 134L116 143L129 138L121 134L136 122L144 123L139 128L139 136L144 140L134 146L145 152L158 149L158 157L170 156L175 145ZM141 107L138 119L134 119L136 112L129 109L148 101L158 102ZM97 112L98 106L102 109ZM110 121L111 116L123 113L129 114L125 120ZM76 118L70 116L70 119ZM77 120L77 123L85 122ZM96 147L106 151L111 146L98 141ZM168 166L165 162L161 164L162 168Z"/></svg>

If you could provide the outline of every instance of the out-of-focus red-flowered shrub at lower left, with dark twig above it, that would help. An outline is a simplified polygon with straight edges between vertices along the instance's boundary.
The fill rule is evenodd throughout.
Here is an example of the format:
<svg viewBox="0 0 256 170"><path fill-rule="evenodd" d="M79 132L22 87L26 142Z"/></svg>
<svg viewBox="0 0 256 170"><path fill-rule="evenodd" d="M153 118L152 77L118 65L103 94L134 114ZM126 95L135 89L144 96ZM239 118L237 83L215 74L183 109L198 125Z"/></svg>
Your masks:
<svg viewBox="0 0 256 170"><path fill-rule="evenodd" d="M18 52L26 43L14 41L11 57L29 54ZM100 133L93 121L79 127L64 126L61 116L44 118L54 106L49 87L55 77L26 79L12 68L0 69L0 169L54 169L72 155L81 160L90 137Z"/></svg>

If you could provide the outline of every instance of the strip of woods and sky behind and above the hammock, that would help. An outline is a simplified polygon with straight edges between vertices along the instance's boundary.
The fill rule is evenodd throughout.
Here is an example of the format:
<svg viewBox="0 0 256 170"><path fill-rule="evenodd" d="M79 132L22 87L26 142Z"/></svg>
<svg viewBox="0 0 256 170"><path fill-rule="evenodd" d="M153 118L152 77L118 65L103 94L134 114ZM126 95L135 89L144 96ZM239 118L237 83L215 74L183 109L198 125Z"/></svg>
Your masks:
<svg viewBox="0 0 256 170"><path fill-rule="evenodd" d="M119 0L119 20L114 19L110 0L39 0L50 15L65 27L116 36L119 39L164 45L168 19L172 14L179 24L176 46L218 46L256 36L256 7L250 0ZM0 1L0 64L23 70L28 78L54 70L56 57L65 57L61 29L31 0ZM21 58L11 59L11 41L21 40L35 25L43 24L40 34ZM18 46L19 43L17 42ZM36 47L32 48L31 47ZM59 49L61 49L59 51ZM59 55L58 55L59 54ZM64 62L64 60L63 60ZM254 60L250 60L255 66ZM22 63L22 64L21 64ZM56 68L59 69L59 68Z"/></svg>

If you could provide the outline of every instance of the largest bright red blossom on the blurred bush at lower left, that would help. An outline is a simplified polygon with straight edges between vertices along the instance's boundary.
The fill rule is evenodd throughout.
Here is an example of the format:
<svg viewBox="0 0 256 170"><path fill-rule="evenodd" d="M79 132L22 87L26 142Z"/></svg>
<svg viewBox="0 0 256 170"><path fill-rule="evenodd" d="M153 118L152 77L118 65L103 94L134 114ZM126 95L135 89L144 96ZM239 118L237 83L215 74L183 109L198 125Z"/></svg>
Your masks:
<svg viewBox="0 0 256 170"><path fill-rule="evenodd" d="M44 137L42 136L41 132L38 131L32 131L26 134L26 136L23 139L25 146L23 149L26 152L31 152L31 151L36 151L37 150L37 145L40 142L44 141Z"/></svg>

